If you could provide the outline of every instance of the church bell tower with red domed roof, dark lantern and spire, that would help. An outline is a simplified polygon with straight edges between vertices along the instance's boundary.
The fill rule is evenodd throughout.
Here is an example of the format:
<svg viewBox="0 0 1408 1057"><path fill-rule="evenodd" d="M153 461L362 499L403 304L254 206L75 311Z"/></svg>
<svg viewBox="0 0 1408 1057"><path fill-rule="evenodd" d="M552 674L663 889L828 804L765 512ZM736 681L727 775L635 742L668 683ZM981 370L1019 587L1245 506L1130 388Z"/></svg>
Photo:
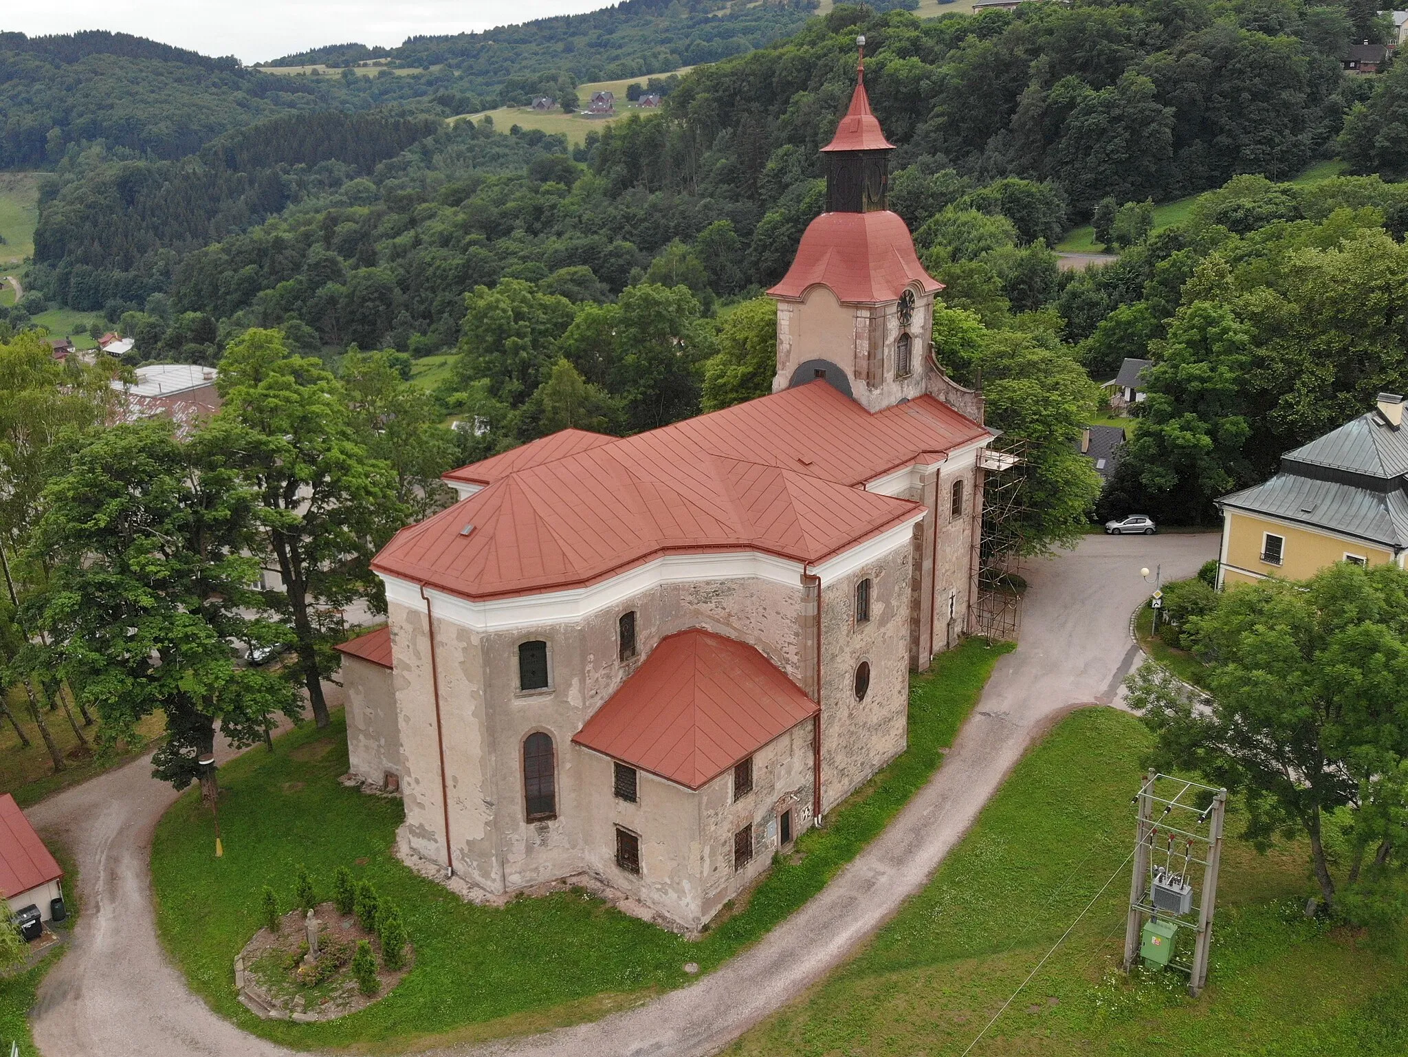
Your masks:
<svg viewBox="0 0 1408 1057"><path fill-rule="evenodd" d="M934 296L943 289L890 211L890 155L866 93L857 37L856 90L821 148L826 211L807 227L777 302L773 392L824 379L867 410L922 395L932 371ZM936 372L934 372L936 373Z"/></svg>

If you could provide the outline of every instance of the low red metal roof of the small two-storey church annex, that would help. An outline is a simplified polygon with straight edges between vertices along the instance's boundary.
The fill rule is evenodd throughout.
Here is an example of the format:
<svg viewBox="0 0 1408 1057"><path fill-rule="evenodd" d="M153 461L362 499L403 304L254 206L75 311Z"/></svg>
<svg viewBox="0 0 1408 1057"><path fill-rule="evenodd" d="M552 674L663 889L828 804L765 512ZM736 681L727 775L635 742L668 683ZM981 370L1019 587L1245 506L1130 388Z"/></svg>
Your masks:
<svg viewBox="0 0 1408 1057"><path fill-rule="evenodd" d="M758 650L691 629L662 638L572 740L698 789L814 715Z"/></svg>

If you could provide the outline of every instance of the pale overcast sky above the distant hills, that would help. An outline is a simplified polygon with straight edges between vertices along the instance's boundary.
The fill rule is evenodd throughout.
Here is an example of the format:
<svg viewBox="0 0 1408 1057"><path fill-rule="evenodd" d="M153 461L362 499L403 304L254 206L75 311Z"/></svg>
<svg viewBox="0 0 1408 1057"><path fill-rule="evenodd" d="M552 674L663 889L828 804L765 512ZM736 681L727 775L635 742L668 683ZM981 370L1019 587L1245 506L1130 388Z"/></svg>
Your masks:
<svg viewBox="0 0 1408 1057"><path fill-rule="evenodd" d="M38 0L4 3L0 23L31 37L113 30L245 63L322 44L396 45L415 34L474 32L611 0Z"/></svg>

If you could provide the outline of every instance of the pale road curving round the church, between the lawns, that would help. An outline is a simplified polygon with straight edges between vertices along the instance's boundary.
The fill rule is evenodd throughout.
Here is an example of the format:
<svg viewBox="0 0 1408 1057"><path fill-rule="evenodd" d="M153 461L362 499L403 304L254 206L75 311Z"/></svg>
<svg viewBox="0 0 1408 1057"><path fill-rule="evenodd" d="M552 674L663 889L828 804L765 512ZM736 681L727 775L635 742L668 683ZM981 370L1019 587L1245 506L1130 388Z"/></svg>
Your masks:
<svg viewBox="0 0 1408 1057"><path fill-rule="evenodd" d="M1036 562L1022 645L1004 657L939 769L890 827L807 906L717 972L649 1005L527 1039L436 1050L438 1057L693 1057L714 1053L797 998L925 884L1022 753L1076 705L1112 700L1135 662L1129 613L1149 593L1139 568L1188 576L1215 536L1087 537ZM170 792L142 764L31 812L62 829L82 871L73 950L49 974L34 1018L46 1057L266 1057L287 1053L238 1032L186 991L153 937L146 874ZM139 1046L137 1046L139 1043Z"/></svg>

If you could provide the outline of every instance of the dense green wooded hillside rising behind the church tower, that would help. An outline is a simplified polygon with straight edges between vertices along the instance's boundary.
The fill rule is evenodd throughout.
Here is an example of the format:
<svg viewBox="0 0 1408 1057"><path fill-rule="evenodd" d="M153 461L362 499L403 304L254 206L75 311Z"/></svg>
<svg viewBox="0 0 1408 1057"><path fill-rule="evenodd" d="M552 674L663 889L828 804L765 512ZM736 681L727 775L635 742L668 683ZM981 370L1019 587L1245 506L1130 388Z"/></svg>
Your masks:
<svg viewBox="0 0 1408 1057"><path fill-rule="evenodd" d="M1207 517L1366 392L1408 385L1394 331L1408 196L1376 176L1276 183L1335 154L1402 172L1408 68L1343 75L1345 42L1381 32L1373 11L1294 0L934 21L838 7L577 149L373 111L265 118L183 162L70 152L10 326L48 299L101 307L149 358L215 362L251 327L329 362L352 345L396 350L407 372L445 357L441 409L483 427L465 454L755 396L772 316L749 299L822 209L818 148L857 32L898 148L891 207L946 286L935 355L962 379L981 371L993 421L1039 438L1036 545L1070 538L1095 497L1069 448L1095 413L1087 369L1159 362L1105 506L1173 520ZM1117 265L1057 272L1049 247L1097 204L1108 221L1229 179L1184 225L1126 224ZM1335 321L1352 311L1362 334Z"/></svg>

